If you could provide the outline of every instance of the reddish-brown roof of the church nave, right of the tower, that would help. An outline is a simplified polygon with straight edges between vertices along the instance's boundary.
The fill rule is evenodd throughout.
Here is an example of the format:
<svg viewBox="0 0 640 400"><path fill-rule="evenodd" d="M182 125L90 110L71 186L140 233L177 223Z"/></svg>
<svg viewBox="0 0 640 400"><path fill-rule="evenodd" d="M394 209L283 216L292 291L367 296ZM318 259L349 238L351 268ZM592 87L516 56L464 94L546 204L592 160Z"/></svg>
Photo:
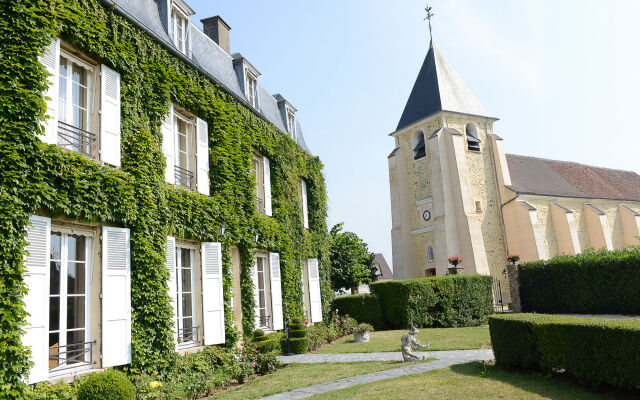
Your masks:
<svg viewBox="0 0 640 400"><path fill-rule="evenodd" d="M640 201L640 175L569 161L507 154L512 188L519 193Z"/></svg>

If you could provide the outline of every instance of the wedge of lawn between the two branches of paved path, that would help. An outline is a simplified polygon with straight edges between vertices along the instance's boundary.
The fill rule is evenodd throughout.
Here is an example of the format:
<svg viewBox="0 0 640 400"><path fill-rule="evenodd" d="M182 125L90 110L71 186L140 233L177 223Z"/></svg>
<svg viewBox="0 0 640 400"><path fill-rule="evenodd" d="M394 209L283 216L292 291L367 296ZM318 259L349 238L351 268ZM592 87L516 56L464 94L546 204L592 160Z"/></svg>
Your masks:
<svg viewBox="0 0 640 400"><path fill-rule="evenodd" d="M273 374L258 377L244 385L236 386L226 392L215 394L212 398L257 399L300 387L332 381L334 379L399 368L403 365L407 365L407 363L402 363L401 361L371 361L291 364L277 370Z"/></svg>

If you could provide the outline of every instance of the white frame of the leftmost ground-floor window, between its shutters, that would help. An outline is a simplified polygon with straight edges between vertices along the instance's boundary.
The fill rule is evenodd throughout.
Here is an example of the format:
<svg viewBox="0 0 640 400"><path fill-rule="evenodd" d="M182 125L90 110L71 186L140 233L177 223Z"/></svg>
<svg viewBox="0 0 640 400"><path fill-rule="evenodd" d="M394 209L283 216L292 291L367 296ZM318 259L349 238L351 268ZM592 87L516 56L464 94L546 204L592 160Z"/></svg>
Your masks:
<svg viewBox="0 0 640 400"><path fill-rule="evenodd" d="M77 236L83 236L85 237L85 261L84 261L84 268L85 268L85 282L84 282L84 287L85 287L85 293L84 293L84 321L85 321L85 326L84 329L73 329L72 331L84 331L84 342L91 342L92 338L91 338L91 303L92 303L92 297L91 297L91 280L92 280L92 275L93 275L93 245L94 245L94 235L92 231L84 231L84 230L76 230L73 229L69 230L69 229L65 229L65 228L60 228L60 227L56 227L56 226L52 226L51 227L51 233L50 235L53 236L54 234L59 234L60 235L60 247L61 247L61 252L62 254L60 254L60 288L59 288L59 294L58 294L58 298L59 300L59 310L60 310L60 315L59 315L59 321L58 321L58 330L57 331L52 331L51 327L49 327L49 331L47 332L47 348L50 348L49 346L49 335L51 333L58 333L58 346L65 346L67 345L67 333L69 332L69 330L67 329L67 300L69 298L68 295L68 282L67 282L67 273L68 273L68 268L69 268L69 248L68 248L68 239L70 235L77 235ZM51 247L53 247L53 244L51 245ZM51 263L52 259L50 259L50 263ZM77 262L77 261L74 261ZM51 264L49 264L49 268L51 268ZM48 294L48 298L49 298L49 302L51 301L51 288L49 288L49 294ZM71 297L79 297L79 296L71 296ZM64 305L64 307L63 307ZM50 318L50 314L51 310L49 310L49 318ZM85 345L86 346L86 345ZM91 346L91 344L89 345ZM89 359L89 357L91 356L91 352L88 352L85 354L85 362L91 362L92 360ZM48 365L48 364L47 364ZM53 368L49 368L49 376L54 377L54 376L59 376L59 375L66 375L69 373L73 373L74 371L81 371L81 370L85 370L85 369L91 369L91 365L80 365L78 367L65 367L66 364L61 364L57 367L53 367Z"/></svg>

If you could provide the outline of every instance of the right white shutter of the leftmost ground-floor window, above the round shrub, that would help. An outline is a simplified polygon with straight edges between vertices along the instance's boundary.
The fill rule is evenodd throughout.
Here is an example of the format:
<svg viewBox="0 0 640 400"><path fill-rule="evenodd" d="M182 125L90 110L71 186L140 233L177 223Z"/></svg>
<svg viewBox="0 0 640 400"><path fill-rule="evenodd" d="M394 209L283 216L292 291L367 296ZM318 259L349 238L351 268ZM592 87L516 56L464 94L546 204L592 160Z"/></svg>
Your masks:
<svg viewBox="0 0 640 400"><path fill-rule="evenodd" d="M102 228L102 368L131 362L129 229Z"/></svg>

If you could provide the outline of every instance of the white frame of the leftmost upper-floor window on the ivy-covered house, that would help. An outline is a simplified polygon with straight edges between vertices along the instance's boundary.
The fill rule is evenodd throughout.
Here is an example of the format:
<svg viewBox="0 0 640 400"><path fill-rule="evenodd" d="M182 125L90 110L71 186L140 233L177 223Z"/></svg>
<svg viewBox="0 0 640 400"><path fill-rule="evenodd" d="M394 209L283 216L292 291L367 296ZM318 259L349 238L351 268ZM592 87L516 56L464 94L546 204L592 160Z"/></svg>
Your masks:
<svg viewBox="0 0 640 400"><path fill-rule="evenodd" d="M68 51L65 51L64 49L60 49L60 65L62 65L62 59L65 59L67 61L67 76L62 76L61 74L61 68L58 68L58 84L60 85L58 88L58 121L60 122L64 122L65 124L74 126L78 129L82 129L86 132L89 133L94 133L93 132L93 127L91 126L91 120L92 120L92 116L93 116L93 110L94 110L94 106L95 106L95 86L96 86L96 78L97 78L97 73L96 73L96 67L87 63L86 61L72 55L71 53L69 53ZM81 127L77 127L73 124L73 110L76 106L74 106L74 99L73 99L73 86L74 86L74 82L73 82L73 68L72 68L72 64L76 64L82 68L84 68L87 71L87 85L85 87L86 91L87 91L87 104L86 104L86 119L84 121L84 128ZM65 114L64 116L61 115L62 112L62 93L63 90L61 90L62 88L62 79L65 80L65 92L66 92L66 96L67 98L64 100L65 103ZM77 84L78 86L82 86ZM81 108L81 107L78 107ZM58 133L59 135L59 133ZM60 140L59 140L59 136L58 138L56 138L56 140L58 141L58 143L60 144ZM91 154L91 146L89 146L88 149L83 149L84 151L86 151L87 153ZM75 150L74 150L75 151Z"/></svg>

